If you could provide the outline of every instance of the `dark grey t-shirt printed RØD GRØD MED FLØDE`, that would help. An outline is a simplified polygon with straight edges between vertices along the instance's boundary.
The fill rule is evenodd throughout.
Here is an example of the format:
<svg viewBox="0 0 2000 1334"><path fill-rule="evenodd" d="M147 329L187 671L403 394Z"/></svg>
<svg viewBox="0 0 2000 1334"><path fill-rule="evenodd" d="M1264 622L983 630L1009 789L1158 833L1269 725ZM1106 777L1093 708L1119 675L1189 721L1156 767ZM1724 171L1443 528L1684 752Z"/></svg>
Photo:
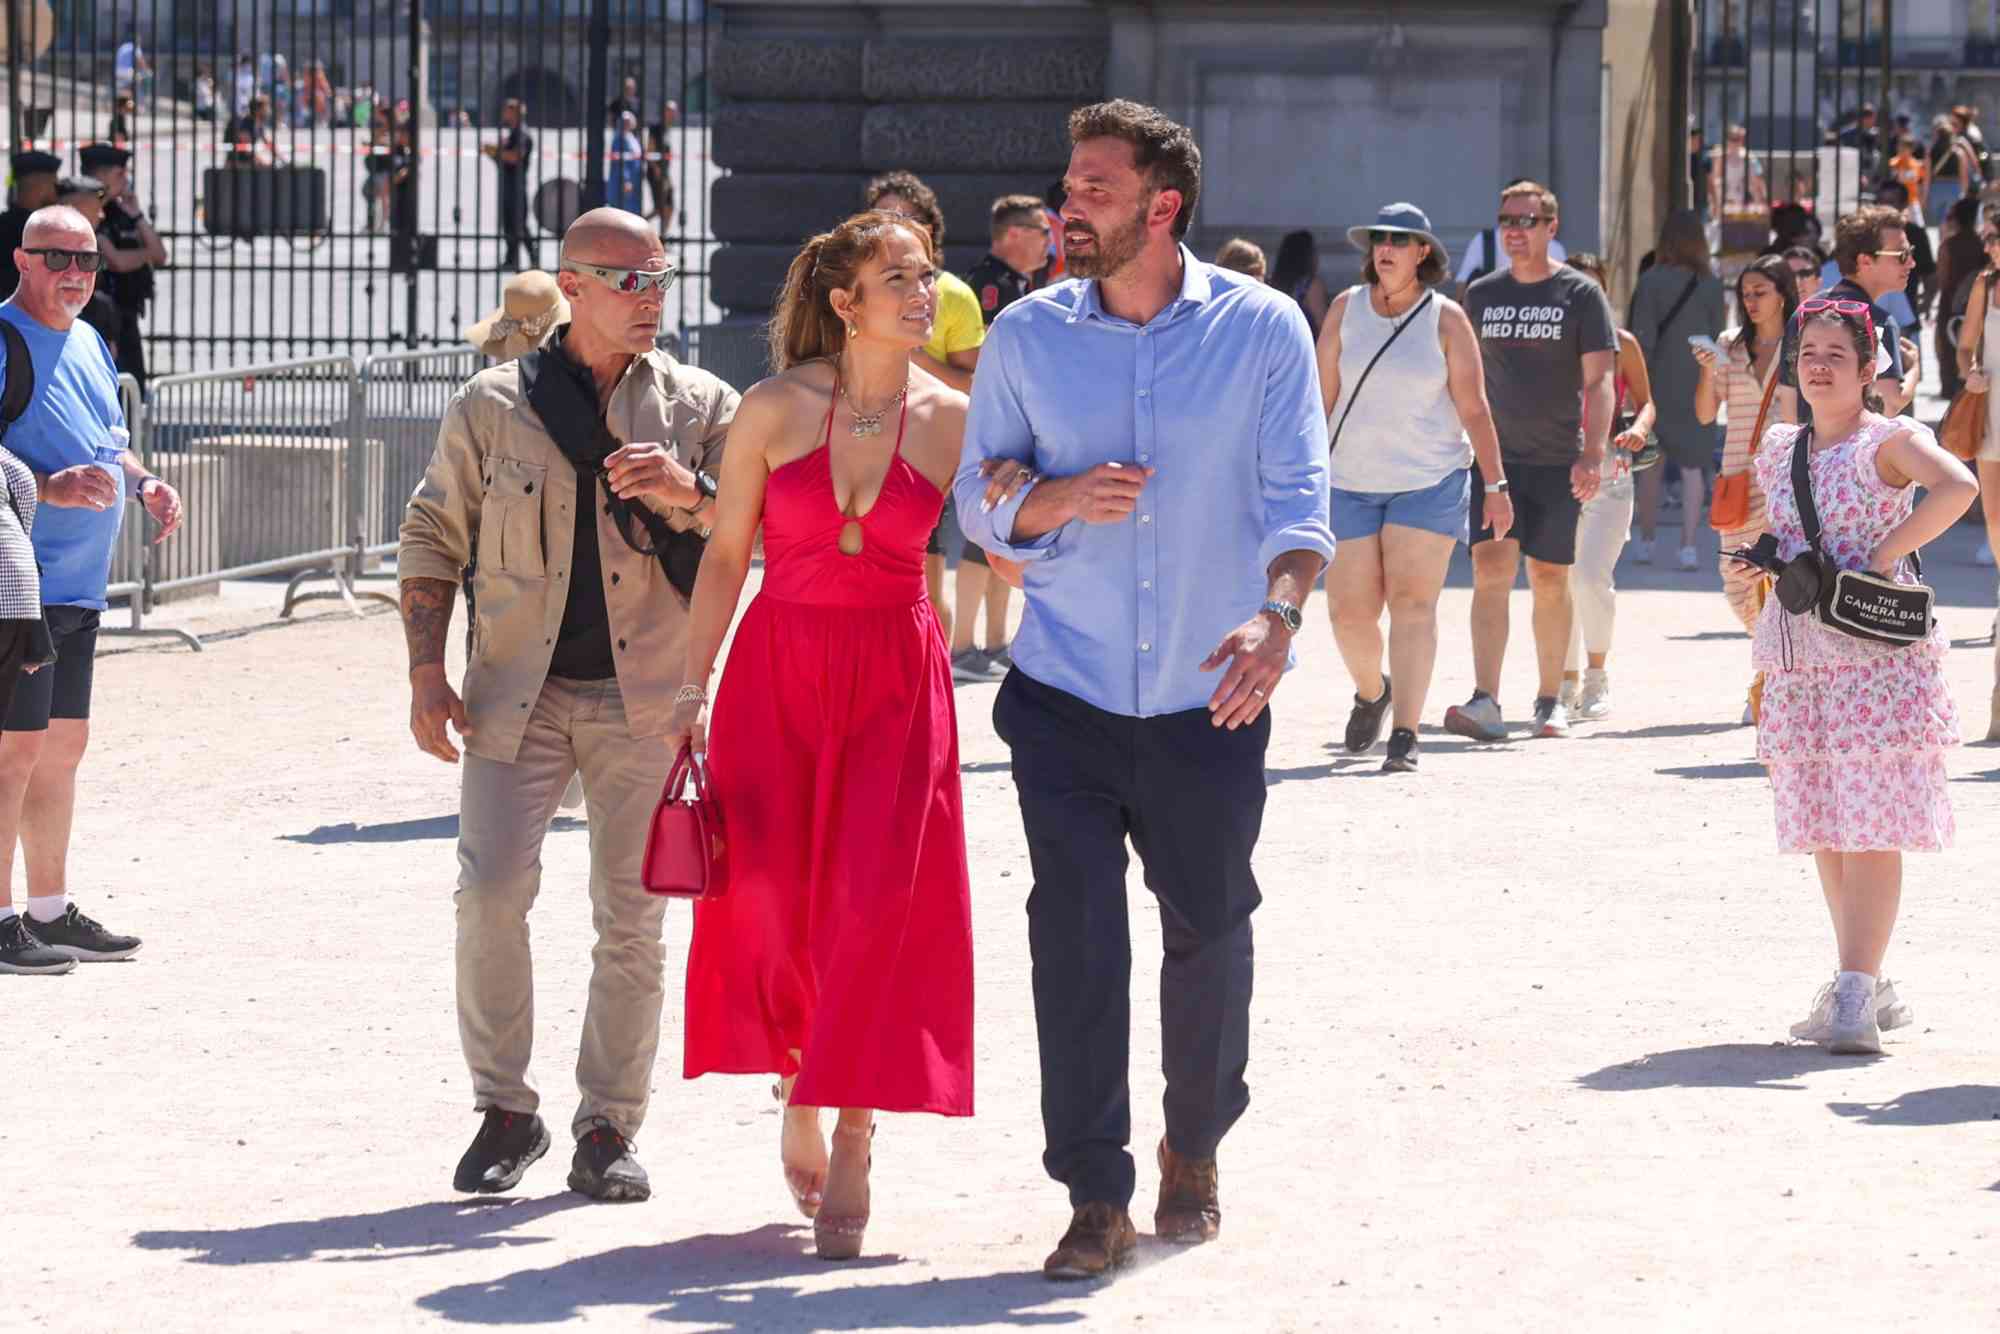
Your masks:
<svg viewBox="0 0 2000 1334"><path fill-rule="evenodd" d="M1466 314L1480 334L1500 458L1574 464L1584 448L1584 354L1618 350L1604 288L1574 268L1542 282L1516 282L1502 268L1472 284Z"/></svg>

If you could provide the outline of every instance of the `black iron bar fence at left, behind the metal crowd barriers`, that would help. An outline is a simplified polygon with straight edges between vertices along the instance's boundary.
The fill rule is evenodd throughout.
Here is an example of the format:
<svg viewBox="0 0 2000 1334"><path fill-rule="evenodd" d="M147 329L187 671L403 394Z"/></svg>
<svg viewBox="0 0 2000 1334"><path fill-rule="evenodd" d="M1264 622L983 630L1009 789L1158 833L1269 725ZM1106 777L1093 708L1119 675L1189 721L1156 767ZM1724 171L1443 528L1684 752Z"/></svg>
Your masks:
<svg viewBox="0 0 2000 1334"><path fill-rule="evenodd" d="M456 342L596 202L660 228L666 334L718 314L704 0L4 2L12 144L134 154L170 250L152 374ZM490 156L510 98L518 228Z"/></svg>

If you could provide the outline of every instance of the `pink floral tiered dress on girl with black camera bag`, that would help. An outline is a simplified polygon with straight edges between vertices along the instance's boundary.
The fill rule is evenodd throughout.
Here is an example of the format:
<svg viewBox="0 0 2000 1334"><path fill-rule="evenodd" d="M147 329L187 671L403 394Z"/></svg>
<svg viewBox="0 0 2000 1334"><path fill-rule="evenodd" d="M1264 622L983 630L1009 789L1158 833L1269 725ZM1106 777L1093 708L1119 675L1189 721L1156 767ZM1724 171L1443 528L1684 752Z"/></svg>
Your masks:
<svg viewBox="0 0 2000 1334"><path fill-rule="evenodd" d="M1862 570L1910 516L1914 488L1892 488L1876 452L1908 418L1862 418L1846 440L1814 450L1812 496L1820 546L1844 570ZM1798 426L1772 426L1756 454L1770 530L1786 560L1806 550L1792 494ZM1916 582L1908 562L1896 578ZM1764 672L1758 758L1770 770L1780 852L1934 852L1954 836L1944 750L1958 744L1958 712L1944 684L1944 636L1892 648L1830 630L1778 598L1758 618L1752 660Z"/></svg>

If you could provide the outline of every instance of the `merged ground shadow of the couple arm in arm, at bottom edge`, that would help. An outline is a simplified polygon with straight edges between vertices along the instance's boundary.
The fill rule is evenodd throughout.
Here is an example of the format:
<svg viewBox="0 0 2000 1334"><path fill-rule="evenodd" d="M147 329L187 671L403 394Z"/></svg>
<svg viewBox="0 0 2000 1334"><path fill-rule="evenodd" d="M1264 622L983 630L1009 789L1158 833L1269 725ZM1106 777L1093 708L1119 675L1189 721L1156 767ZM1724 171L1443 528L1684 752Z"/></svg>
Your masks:
<svg viewBox="0 0 2000 1334"><path fill-rule="evenodd" d="M868 1256L840 1274L904 1268L900 1256ZM786 1278L828 1274L804 1228L766 1224L742 1234L704 1234L656 1246L620 1246L492 1282L440 1288L416 1300L422 1310L464 1324L560 1324L618 1318L624 1308L652 1308L654 1320L706 1330L860 1330L954 1328L976 1324L1054 1326L1086 1318L1082 1310L1036 1310L1084 1296L1054 1288L1038 1272L980 1278L912 1278L804 1288Z"/></svg>

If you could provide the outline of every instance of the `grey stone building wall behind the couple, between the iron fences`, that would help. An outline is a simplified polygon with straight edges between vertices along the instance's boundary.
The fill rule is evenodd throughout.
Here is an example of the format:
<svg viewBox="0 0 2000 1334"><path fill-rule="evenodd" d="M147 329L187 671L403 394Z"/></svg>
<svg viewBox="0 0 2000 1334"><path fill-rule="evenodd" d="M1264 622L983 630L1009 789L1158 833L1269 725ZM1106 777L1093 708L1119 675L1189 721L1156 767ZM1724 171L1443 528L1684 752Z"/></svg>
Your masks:
<svg viewBox="0 0 2000 1334"><path fill-rule="evenodd" d="M1672 0L1678 2L1678 0ZM1454 256L1512 176L1564 200L1564 240L1598 248L1622 178L1652 178L1660 54L1646 0L716 0L712 292L718 358L754 370L742 330L798 244L910 168L940 194L948 264L978 258L996 194L1040 194L1068 158L1072 106L1152 102L1194 128L1204 190L1190 246L1274 248L1306 228L1328 284L1360 256L1346 228L1422 204ZM1638 66L1614 90L1606 28ZM1612 108L1632 112L1614 128ZM1636 126L1636 128L1634 128ZM1622 148L1608 144L1620 138ZM1636 154L1636 156L1634 156ZM1650 226L1650 224L1646 224ZM1644 230L1644 228L1642 228ZM736 346L722 356L724 344ZM704 364L708 358L704 356Z"/></svg>

